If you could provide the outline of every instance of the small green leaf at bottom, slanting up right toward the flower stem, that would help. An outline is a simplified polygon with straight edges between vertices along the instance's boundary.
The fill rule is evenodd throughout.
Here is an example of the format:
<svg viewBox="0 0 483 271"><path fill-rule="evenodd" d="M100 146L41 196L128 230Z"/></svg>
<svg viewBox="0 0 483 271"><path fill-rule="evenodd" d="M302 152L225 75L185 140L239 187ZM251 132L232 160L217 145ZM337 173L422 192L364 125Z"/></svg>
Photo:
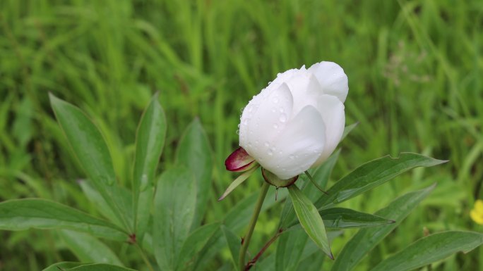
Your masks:
<svg viewBox="0 0 483 271"><path fill-rule="evenodd" d="M221 223L215 222L203 225L195 229L189 237L184 241L181 253L179 253L179 260L177 263L177 270L186 270L189 265L193 263L193 258L205 246L208 239L220 228Z"/></svg>

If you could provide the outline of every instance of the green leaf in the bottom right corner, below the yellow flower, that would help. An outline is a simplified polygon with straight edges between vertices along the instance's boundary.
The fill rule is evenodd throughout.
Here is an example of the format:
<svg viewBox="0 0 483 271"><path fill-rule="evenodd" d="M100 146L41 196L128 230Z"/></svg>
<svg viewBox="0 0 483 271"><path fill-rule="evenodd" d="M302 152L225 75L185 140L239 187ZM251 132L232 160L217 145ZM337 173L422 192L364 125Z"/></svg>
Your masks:
<svg viewBox="0 0 483 271"><path fill-rule="evenodd" d="M414 270L443 260L458 251L467 253L482 244L483 234L478 232L449 231L431 234L383 260L372 271Z"/></svg>

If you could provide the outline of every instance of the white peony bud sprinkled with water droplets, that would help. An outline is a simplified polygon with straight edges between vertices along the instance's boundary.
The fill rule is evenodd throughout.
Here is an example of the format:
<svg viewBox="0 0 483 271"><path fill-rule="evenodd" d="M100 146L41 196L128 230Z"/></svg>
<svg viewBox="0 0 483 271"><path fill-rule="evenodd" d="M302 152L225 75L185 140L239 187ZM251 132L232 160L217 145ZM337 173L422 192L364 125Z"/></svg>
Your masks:
<svg viewBox="0 0 483 271"><path fill-rule="evenodd" d="M342 137L348 90L344 70L333 62L279 73L244 108L239 144L246 153L232 156L243 157L245 164L227 159L227 169L241 171L255 160L278 178L290 179L320 165Z"/></svg>

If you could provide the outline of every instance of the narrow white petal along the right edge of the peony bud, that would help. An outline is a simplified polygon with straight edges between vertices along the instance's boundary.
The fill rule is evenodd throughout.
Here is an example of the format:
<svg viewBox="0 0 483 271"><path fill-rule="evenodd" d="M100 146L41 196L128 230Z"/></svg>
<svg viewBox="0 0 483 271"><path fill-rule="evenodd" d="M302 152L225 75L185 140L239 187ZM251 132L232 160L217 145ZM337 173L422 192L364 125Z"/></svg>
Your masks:
<svg viewBox="0 0 483 271"><path fill-rule="evenodd" d="M317 110L321 113L326 125L326 146L314 166L325 161L339 144L344 132L345 113L344 104L332 95L322 95L317 100Z"/></svg>

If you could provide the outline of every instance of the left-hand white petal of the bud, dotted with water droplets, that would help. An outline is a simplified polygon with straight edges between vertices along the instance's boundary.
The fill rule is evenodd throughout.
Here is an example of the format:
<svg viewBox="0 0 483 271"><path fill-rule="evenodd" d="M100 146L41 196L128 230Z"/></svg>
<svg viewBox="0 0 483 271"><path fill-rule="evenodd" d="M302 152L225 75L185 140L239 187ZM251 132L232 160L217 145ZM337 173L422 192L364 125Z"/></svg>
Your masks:
<svg viewBox="0 0 483 271"><path fill-rule="evenodd" d="M258 95L261 98L259 104L254 106L256 108L251 109L247 106L244 110L247 113L244 112L241 116L240 146L258 163L261 163L270 158L268 146L273 145L274 139L285 129L285 125L290 120L293 99L285 83L270 95ZM258 98L254 100L258 103ZM252 112L249 113L249 110Z"/></svg>

